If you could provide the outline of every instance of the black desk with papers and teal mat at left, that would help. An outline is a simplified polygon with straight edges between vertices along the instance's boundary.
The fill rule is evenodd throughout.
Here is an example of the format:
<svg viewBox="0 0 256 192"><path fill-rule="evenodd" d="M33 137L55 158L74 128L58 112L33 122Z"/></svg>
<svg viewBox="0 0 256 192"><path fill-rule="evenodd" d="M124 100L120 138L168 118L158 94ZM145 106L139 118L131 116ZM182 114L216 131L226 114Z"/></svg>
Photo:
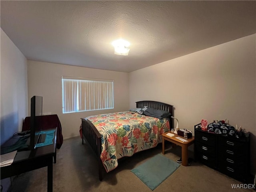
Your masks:
<svg viewBox="0 0 256 192"><path fill-rule="evenodd" d="M47 191L52 192L52 158L54 157L54 162L56 162L56 132L57 129L54 132L52 145L39 147L33 151L27 150L17 152L11 165L1 167L1 179L47 166Z"/></svg>

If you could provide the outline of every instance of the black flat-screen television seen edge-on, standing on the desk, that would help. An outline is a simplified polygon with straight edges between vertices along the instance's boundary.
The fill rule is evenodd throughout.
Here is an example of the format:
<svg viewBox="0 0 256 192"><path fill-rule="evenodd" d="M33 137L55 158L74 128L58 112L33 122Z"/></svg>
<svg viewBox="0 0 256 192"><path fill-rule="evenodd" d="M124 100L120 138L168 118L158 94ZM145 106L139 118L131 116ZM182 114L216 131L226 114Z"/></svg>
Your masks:
<svg viewBox="0 0 256 192"><path fill-rule="evenodd" d="M30 150L36 148L36 144L44 142L46 134L40 134L42 130L43 97L33 96L30 103Z"/></svg>

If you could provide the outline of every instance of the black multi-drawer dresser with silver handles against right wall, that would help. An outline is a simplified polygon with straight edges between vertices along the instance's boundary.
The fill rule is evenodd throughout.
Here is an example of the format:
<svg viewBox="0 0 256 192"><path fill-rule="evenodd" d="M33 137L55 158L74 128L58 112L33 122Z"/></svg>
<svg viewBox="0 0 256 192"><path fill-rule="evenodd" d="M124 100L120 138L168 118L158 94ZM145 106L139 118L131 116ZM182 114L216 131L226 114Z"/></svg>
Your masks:
<svg viewBox="0 0 256 192"><path fill-rule="evenodd" d="M195 159L241 182L250 175L250 132L242 138L208 133L195 125Z"/></svg>

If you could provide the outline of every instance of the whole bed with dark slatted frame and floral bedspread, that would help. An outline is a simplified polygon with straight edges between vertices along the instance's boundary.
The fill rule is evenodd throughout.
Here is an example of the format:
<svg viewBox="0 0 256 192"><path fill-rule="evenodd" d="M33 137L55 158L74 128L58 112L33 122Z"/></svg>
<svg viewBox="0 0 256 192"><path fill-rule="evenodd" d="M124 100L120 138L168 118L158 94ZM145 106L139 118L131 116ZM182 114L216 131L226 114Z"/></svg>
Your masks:
<svg viewBox="0 0 256 192"><path fill-rule="evenodd" d="M168 112L168 118L155 118L135 111L100 114L82 118L82 144L86 141L98 159L98 174L117 167L118 159L154 148L162 142L162 133L173 128L173 106L156 101L136 102L136 109Z"/></svg>

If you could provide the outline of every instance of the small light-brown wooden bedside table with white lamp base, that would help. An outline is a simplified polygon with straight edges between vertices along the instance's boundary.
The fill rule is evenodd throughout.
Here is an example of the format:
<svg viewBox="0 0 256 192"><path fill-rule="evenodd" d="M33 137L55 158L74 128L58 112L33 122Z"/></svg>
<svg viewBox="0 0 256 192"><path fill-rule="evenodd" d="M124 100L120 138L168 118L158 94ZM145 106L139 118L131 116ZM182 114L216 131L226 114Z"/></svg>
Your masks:
<svg viewBox="0 0 256 192"><path fill-rule="evenodd" d="M170 131L165 132L162 134L162 153L164 154L164 141L170 141L172 142L172 147L175 147L176 145L181 146L182 147L182 152L181 152L181 158L182 158L182 165L183 166L188 166L188 146L190 146L191 144L194 143L194 136L192 136L191 138L187 139L188 142L182 142L181 140L178 140L176 137L181 137L178 134L174 134L173 137L169 137L166 134L167 133L171 133Z"/></svg>

